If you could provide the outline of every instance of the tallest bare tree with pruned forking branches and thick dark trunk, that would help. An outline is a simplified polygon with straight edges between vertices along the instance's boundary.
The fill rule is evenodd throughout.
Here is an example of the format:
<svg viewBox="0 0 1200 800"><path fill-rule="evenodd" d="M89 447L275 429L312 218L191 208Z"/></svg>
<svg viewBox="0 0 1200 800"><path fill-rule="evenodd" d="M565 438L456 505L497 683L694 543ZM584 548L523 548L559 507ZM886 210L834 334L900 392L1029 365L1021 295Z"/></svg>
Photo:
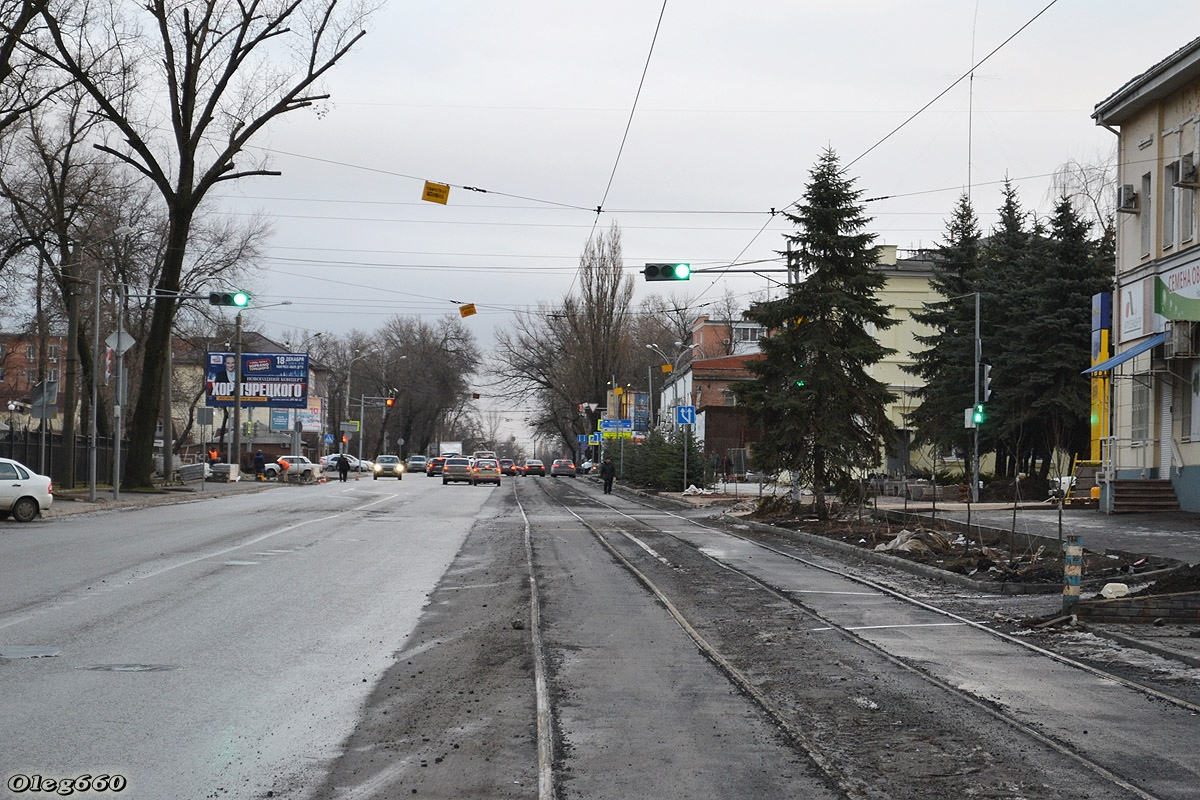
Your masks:
<svg viewBox="0 0 1200 800"><path fill-rule="evenodd" d="M144 175L166 206L127 488L151 485L166 345L200 204L221 182L275 174L248 143L276 118L328 97L318 84L365 35L366 13L336 0L58 0L42 8L50 43L36 52L94 101L114 134L100 149Z"/></svg>

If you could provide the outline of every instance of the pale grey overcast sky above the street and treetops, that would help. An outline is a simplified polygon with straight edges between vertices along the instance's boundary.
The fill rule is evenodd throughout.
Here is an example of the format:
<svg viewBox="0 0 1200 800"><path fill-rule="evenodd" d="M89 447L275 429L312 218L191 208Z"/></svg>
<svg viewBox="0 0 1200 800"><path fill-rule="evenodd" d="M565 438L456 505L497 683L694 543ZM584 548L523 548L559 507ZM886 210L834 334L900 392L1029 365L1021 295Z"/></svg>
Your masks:
<svg viewBox="0 0 1200 800"><path fill-rule="evenodd" d="M331 73L328 113L256 142L282 176L216 205L274 224L256 303L292 305L251 324L373 331L472 302L486 349L514 309L569 291L612 223L636 297L745 303L781 276L638 272L778 259L770 210L827 146L888 198L866 204L880 243L937 243L968 185L989 228L1006 176L1044 213L1056 168L1114 145L1093 107L1196 34L1194 1L1048 2L390 0ZM448 205L421 200L426 180L451 185Z"/></svg>

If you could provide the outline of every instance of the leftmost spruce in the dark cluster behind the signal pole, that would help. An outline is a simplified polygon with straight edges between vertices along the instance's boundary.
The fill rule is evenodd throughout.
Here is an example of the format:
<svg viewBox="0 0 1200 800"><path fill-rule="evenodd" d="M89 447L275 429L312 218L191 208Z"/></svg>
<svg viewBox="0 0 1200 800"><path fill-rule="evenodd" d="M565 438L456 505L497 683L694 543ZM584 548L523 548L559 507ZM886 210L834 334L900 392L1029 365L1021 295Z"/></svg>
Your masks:
<svg viewBox="0 0 1200 800"><path fill-rule="evenodd" d="M924 350L912 354L908 372L923 381L913 392L920 401L907 422L916 428L914 444L930 444L941 452L971 452L971 434L962 413L974 404L976 283L980 257L979 221L971 198L959 197L946 227L946 241L932 254L930 279L938 300L924 303L912 318L932 332L917 335Z"/></svg>

